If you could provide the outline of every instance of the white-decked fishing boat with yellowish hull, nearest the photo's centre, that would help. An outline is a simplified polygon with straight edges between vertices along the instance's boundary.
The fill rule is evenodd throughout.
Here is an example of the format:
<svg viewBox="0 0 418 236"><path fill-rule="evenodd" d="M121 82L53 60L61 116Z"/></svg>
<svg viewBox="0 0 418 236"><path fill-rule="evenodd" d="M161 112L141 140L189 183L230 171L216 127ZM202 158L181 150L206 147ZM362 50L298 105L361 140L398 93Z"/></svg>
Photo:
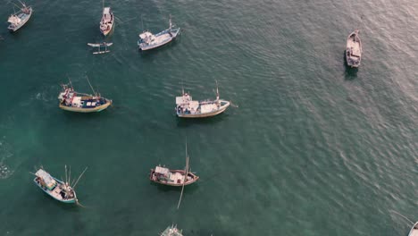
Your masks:
<svg viewBox="0 0 418 236"><path fill-rule="evenodd" d="M181 97L176 97L176 113L181 118L210 117L222 114L230 106L229 101L219 99L218 88L216 88L215 100L193 101L184 89L181 93Z"/></svg>

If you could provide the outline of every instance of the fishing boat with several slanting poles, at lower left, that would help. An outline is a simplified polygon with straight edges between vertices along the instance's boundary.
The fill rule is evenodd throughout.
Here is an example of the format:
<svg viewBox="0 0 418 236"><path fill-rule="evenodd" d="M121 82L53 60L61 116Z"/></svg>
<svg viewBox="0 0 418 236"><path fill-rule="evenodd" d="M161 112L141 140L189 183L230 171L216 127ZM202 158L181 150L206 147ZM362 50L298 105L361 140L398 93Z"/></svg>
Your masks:
<svg viewBox="0 0 418 236"><path fill-rule="evenodd" d="M87 168L84 170L85 173ZM83 175L79 175L79 179ZM33 181L41 190L44 190L46 194L63 203L76 203L79 204L77 195L75 192L75 187L79 182L79 179L75 181L73 187L70 185L71 181L71 169L70 176L67 178L67 166L65 166L65 181L60 181L54 178L50 173L47 173L44 169L40 168L35 174L35 179Z"/></svg>

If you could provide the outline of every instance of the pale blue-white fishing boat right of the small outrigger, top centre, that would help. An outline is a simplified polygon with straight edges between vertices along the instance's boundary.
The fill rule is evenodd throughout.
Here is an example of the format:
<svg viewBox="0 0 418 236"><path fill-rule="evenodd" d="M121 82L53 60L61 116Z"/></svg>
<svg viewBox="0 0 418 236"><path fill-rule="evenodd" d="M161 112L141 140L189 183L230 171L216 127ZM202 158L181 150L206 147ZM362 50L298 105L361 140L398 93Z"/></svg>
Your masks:
<svg viewBox="0 0 418 236"><path fill-rule="evenodd" d="M148 30L139 34L139 50L146 51L170 43L174 38L177 38L177 36L180 34L180 28L173 29L172 27L174 26L171 24L170 17L169 29L163 30L157 34L153 34Z"/></svg>

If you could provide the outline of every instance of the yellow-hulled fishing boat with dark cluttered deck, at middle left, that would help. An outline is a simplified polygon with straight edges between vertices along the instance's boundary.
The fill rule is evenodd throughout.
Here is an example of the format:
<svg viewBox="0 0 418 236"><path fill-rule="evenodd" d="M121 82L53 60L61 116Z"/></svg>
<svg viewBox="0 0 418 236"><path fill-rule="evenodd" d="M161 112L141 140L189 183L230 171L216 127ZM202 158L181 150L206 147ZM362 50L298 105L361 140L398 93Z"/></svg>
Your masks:
<svg viewBox="0 0 418 236"><path fill-rule="evenodd" d="M58 96L60 108L76 113L94 113L103 111L109 105L112 105L112 100L101 97L100 94L96 93L89 80L88 84L94 95L76 92L71 81L70 84L63 84L63 91Z"/></svg>

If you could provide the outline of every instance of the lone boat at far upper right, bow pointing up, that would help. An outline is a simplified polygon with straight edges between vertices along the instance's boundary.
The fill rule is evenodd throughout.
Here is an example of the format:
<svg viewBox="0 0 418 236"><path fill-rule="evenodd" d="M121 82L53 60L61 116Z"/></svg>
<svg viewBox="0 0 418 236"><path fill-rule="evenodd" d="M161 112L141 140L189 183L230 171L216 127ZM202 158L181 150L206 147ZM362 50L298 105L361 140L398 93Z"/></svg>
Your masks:
<svg viewBox="0 0 418 236"><path fill-rule="evenodd" d="M359 30L355 30L347 37L346 58L350 67L358 67L362 60L362 41L358 34Z"/></svg>

